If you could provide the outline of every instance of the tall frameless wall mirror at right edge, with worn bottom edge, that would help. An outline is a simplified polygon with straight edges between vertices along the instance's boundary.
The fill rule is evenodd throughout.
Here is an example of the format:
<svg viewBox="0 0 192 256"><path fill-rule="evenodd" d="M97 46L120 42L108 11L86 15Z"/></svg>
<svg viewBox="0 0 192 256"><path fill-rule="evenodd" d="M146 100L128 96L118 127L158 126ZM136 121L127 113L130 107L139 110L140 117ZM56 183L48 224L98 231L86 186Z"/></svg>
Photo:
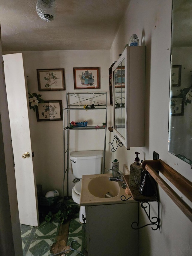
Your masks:
<svg viewBox="0 0 192 256"><path fill-rule="evenodd" d="M192 2L173 0L168 151L192 164Z"/></svg>

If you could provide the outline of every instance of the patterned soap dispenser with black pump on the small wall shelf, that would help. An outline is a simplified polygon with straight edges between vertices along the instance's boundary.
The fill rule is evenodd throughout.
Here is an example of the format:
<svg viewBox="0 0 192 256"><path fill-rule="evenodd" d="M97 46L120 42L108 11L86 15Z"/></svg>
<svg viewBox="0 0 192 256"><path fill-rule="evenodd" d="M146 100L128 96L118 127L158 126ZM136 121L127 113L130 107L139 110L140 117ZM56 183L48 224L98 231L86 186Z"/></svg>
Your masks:
<svg viewBox="0 0 192 256"><path fill-rule="evenodd" d="M141 186L141 173L143 169L141 168L141 163L138 155L139 152L135 152L136 158L133 164L130 165L130 176L129 184L134 188L140 188Z"/></svg>

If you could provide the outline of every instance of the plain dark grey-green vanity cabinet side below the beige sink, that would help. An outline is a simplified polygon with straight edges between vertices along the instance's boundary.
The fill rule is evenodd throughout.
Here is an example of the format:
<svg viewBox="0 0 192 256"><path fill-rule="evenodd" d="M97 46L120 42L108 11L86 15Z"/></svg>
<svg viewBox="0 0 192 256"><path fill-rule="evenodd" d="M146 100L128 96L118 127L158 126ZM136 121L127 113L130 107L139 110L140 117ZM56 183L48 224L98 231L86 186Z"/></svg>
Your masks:
<svg viewBox="0 0 192 256"><path fill-rule="evenodd" d="M139 255L138 202L85 206L88 256Z"/></svg>

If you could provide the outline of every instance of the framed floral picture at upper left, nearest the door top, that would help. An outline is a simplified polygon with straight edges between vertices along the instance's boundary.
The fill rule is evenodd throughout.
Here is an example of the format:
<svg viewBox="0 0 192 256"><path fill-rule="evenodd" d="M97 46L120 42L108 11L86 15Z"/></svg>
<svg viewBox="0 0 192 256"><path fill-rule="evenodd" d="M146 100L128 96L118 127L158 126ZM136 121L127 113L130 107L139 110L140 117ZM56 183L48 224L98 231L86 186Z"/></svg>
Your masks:
<svg viewBox="0 0 192 256"><path fill-rule="evenodd" d="M37 69L39 91L65 90L64 69Z"/></svg>

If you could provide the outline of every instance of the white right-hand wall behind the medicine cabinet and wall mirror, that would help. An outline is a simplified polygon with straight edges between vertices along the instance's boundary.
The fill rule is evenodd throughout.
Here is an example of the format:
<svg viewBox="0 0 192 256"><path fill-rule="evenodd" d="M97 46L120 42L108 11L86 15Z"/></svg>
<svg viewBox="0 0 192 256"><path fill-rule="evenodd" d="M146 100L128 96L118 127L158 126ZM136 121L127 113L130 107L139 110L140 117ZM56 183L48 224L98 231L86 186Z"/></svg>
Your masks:
<svg viewBox="0 0 192 256"><path fill-rule="evenodd" d="M118 159L120 168L122 164L130 167L135 151L140 152L140 160L152 159L156 151L164 162L192 181L190 165L168 152L171 4L171 0L131 0L113 42L111 63L118 59L132 34L146 45L145 147L129 151L119 148L113 158ZM159 195L161 227L140 230L140 255L192 255L191 222L161 188ZM157 203L151 205L152 216L156 216ZM148 223L140 209L140 226Z"/></svg>

